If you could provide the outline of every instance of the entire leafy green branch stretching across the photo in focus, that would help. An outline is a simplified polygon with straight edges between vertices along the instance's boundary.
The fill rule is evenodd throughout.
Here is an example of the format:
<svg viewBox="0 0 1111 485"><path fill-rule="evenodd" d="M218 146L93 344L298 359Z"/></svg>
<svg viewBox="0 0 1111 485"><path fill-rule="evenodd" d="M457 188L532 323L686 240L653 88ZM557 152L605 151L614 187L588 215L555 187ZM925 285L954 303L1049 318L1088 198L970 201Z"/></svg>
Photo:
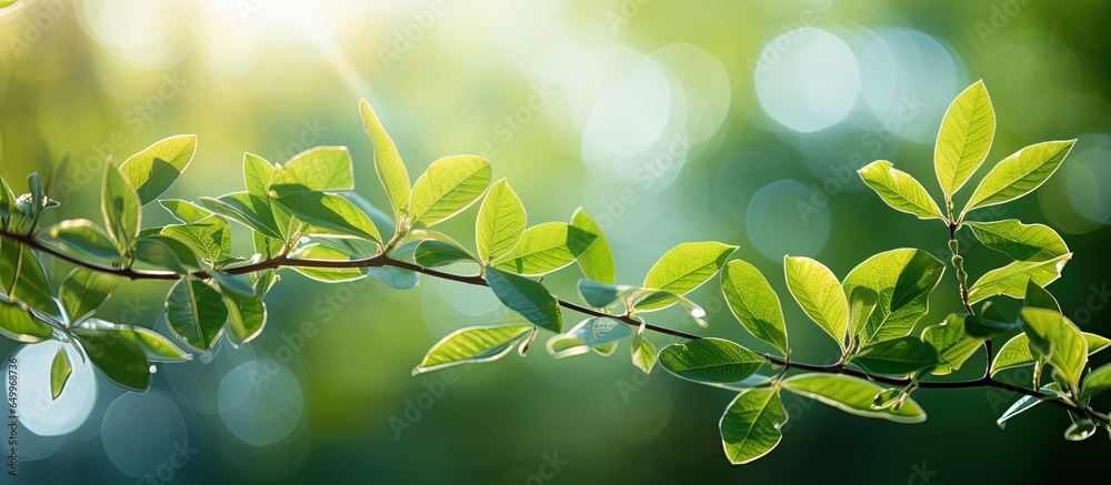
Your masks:
<svg viewBox="0 0 1111 485"><path fill-rule="evenodd" d="M524 205L509 183L502 179L491 184L490 163L471 155L437 160L411 183L396 144L366 100L360 110L392 218L351 192L352 161L340 146L311 149L283 165L248 153L244 191L193 203L159 198L189 165L196 138L162 140L120 165L108 163L103 226L70 220L39 228L41 213L54 205L39 176L29 178L29 192L19 198L0 181L0 332L20 342L56 339L72 344L112 382L143 391L150 383L150 362L188 360L213 350L221 339L240 345L257 337L267 322L263 296L279 281L279 270L323 282L373 276L400 290L416 286L419 274L426 274L489 286L519 319L447 335L413 374L498 360L514 347L523 355L541 331L552 334L546 347L557 358L591 352L608 356L627 342L631 362L645 373L659 363L681 378L737 393L720 423L732 463L755 459L779 443L788 420L783 390L860 416L918 423L925 412L911 393L952 384L929 377L959 370L981 347L990 368L971 384L998 386L997 373L1034 367L1032 388L1020 390L1023 397L1000 418L1001 426L1038 403L1053 402L1073 417L1065 433L1070 439L1088 437L1099 427L1111 432L1111 420L1090 406L1093 396L1111 388L1111 367L1088 368L1089 354L1111 341L1082 333L1043 287L1060 276L1071 256L1068 246L1044 225L965 221L970 211L1034 190L1061 164L1073 141L1035 144L1005 158L953 215L952 195L983 163L994 134L994 112L980 82L953 102L942 122L935 168L945 212L890 162L860 170L864 182L894 209L945 224L968 312L915 332L945 272L942 261L921 250L877 254L843 280L815 260L787 256L783 270L791 296L840 348L830 365L792 361L780 299L755 266L730 260L737 246L682 243L662 255L642 284L619 285L610 246L581 209L570 222L529 226ZM143 206L156 201L176 223L142 226ZM473 251L432 229L479 201ZM232 252L232 222L251 233L249 257ZM382 238L379 225L393 226L392 235ZM1014 260L971 286L955 241L965 226L984 246ZM74 265L57 300L42 255ZM581 305L557 299L542 283L544 275L572 264L584 276L578 283ZM451 272L460 267L477 272ZM705 327L705 312L687 295L719 273L729 309L768 353L645 321L649 313L679 305ZM161 316L172 340L94 316L126 279L174 282ZM1024 307L1007 317L988 301L973 313L972 304L997 295L1023 299ZM561 306L588 317L564 329ZM688 341L658 351L649 330ZM1019 333L990 360L990 339L1010 331ZM799 370L804 372L790 372ZM56 397L70 372L67 353L59 351L51 372Z"/></svg>

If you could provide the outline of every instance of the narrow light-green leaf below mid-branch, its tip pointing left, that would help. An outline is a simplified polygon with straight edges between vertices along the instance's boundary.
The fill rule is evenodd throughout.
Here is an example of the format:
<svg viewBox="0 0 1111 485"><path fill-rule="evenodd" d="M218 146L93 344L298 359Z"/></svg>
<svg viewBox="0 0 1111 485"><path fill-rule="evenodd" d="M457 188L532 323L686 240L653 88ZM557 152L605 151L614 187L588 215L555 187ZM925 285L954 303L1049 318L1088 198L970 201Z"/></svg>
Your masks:
<svg viewBox="0 0 1111 485"><path fill-rule="evenodd" d="M497 361L512 352L513 344L532 329L532 324L509 323L457 330L432 345L413 368L413 375L452 365Z"/></svg>

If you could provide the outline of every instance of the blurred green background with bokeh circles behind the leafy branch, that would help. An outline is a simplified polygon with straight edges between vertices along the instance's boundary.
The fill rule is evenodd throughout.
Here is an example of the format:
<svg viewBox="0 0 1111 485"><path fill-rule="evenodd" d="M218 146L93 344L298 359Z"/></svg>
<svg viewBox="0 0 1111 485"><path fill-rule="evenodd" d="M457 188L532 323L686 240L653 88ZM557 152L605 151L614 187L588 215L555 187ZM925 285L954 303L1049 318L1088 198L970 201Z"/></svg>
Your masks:
<svg viewBox="0 0 1111 485"><path fill-rule="evenodd" d="M367 97L414 180L437 158L476 153L511 180L530 223L584 206L622 283L675 243L739 244L735 257L780 291L794 358L822 363L835 347L787 296L782 255L817 257L841 277L894 247L944 260L944 228L888 209L853 172L888 159L940 195L941 117L983 79L999 119L989 163L1035 142L1079 142L1034 194L980 215L1057 228L1075 255L1049 290L1084 331L1107 335L1108 18L1100 1L19 0L0 10L0 172L20 190L68 153L51 194L63 205L48 214L99 220L104 159L171 134L199 135L168 193L184 199L242 190L244 151L284 162L338 144L351 149L358 192L384 206L357 111ZM472 241L473 215L446 231ZM168 221L147 209L148 225ZM249 251L246 230L237 238ZM972 277L1005 263L982 247L965 259ZM575 272L546 283L571 296ZM767 350L711 286L693 295L710 313L704 333ZM103 316L164 331L168 289L124 285ZM507 317L481 289L423 279L397 292L289 272L267 302L259 340L159 366L142 395L84 367L51 403L52 350L19 351L19 479L1034 482L1111 449L1102 435L1063 441L1057 408L1004 432L993 421L1017 396L924 390L915 398L930 420L913 426L784 397L781 445L730 466L717 424L732 395L660 368L638 375L627 347L557 362L542 334L523 360L410 376L443 335ZM959 310L951 272L931 303L922 325ZM678 311L652 321L699 331ZM982 365L974 357L957 377ZM541 476L556 468L546 463L559 463L553 476Z"/></svg>

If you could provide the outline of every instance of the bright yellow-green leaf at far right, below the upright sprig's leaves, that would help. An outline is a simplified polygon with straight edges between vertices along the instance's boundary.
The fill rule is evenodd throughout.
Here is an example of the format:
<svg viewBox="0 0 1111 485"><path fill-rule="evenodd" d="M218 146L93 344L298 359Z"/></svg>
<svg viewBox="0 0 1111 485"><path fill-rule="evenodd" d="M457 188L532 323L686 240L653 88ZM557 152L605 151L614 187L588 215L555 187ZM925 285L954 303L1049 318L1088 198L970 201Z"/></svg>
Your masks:
<svg viewBox="0 0 1111 485"><path fill-rule="evenodd" d="M1072 321L1051 310L1023 309L1019 312L1019 326L1028 336L1037 335L1049 342L1049 355L1041 357L1045 357L1069 383L1080 384L1088 365L1088 340Z"/></svg>

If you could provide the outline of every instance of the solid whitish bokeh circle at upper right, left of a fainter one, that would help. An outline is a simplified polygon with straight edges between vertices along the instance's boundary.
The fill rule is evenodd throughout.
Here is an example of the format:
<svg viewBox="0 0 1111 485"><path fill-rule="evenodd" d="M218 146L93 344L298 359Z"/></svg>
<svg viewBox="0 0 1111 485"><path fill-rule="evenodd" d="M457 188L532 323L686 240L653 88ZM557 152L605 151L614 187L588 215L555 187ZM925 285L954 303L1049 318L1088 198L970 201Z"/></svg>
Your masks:
<svg viewBox="0 0 1111 485"><path fill-rule="evenodd" d="M860 92L852 49L837 36L813 27L777 37L755 64L760 105L780 124L803 133L844 119Z"/></svg>

